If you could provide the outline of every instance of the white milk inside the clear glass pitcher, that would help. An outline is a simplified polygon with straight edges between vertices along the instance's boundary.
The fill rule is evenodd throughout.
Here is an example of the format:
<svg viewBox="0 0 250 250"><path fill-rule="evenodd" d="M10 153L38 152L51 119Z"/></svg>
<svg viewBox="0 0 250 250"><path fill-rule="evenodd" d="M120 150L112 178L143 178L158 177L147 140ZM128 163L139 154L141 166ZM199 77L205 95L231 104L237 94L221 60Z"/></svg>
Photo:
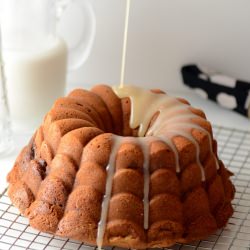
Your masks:
<svg viewBox="0 0 250 250"><path fill-rule="evenodd" d="M4 50L7 96L16 131L32 132L64 95L67 48L62 39L36 52Z"/></svg>

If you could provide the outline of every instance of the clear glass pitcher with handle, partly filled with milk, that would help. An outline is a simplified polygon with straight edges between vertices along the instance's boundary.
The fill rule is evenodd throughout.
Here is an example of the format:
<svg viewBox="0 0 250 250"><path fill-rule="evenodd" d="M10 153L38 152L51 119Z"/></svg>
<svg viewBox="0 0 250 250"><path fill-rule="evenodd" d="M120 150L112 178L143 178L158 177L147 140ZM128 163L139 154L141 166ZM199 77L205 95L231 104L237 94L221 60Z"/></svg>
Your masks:
<svg viewBox="0 0 250 250"><path fill-rule="evenodd" d="M86 0L1 0L2 57L13 130L33 132L56 98L63 96L67 69L87 59L95 35L95 16ZM77 9L67 17L67 9ZM73 25L78 41L67 46L58 27ZM70 67L67 66L69 62Z"/></svg>

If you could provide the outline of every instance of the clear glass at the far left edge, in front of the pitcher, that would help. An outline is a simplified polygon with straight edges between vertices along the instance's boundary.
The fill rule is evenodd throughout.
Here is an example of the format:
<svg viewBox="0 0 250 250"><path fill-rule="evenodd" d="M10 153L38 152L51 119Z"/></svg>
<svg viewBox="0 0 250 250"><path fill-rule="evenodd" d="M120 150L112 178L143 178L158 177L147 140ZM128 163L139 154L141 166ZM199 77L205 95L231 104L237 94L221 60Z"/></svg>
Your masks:
<svg viewBox="0 0 250 250"><path fill-rule="evenodd" d="M0 157L12 149L12 129L6 93L0 25Z"/></svg>

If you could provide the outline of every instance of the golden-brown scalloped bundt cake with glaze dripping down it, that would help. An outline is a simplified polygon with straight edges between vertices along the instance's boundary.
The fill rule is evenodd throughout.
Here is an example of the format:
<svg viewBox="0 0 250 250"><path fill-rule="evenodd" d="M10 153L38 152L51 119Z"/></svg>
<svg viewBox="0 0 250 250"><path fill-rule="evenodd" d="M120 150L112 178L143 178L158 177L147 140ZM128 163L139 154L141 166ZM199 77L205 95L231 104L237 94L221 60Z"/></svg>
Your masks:
<svg viewBox="0 0 250 250"><path fill-rule="evenodd" d="M143 249L223 227L230 176L201 110L156 89L97 85L55 101L9 173L8 194L40 231Z"/></svg>

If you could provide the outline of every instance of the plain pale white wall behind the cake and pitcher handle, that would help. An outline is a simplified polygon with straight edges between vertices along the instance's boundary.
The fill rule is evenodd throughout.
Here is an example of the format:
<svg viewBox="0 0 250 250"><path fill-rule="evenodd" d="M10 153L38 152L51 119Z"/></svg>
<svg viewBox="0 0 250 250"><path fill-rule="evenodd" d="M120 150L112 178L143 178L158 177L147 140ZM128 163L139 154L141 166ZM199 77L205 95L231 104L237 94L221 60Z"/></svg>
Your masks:
<svg viewBox="0 0 250 250"><path fill-rule="evenodd" d="M117 84L126 1L89 2L96 38L88 61L69 82ZM250 81L250 1L131 0L126 82L183 90L179 72L186 63Z"/></svg>

